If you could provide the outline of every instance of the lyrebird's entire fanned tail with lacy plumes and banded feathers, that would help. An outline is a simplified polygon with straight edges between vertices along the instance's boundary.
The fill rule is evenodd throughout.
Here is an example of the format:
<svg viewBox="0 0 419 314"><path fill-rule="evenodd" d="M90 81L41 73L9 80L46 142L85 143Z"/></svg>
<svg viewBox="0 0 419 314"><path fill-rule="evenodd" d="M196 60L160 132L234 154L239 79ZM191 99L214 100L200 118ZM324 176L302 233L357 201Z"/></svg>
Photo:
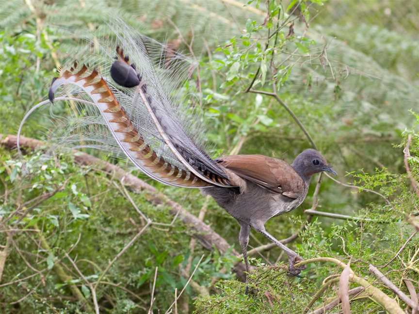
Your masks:
<svg viewBox="0 0 419 314"><path fill-rule="evenodd" d="M95 37L99 45L93 51L89 45L78 53L78 63L63 67L51 83L51 103L59 87L76 86L90 97L102 119L76 117L79 125L106 126L113 138L90 128L83 136L94 144L84 146L118 147L136 167L164 184L231 187L224 168L202 148L204 133L194 123L199 119L176 96L177 77L185 69L182 56L167 53L164 45L133 32L120 20L111 27L115 38ZM71 131L77 129L73 126ZM74 137L67 137L67 142L75 142Z"/></svg>

